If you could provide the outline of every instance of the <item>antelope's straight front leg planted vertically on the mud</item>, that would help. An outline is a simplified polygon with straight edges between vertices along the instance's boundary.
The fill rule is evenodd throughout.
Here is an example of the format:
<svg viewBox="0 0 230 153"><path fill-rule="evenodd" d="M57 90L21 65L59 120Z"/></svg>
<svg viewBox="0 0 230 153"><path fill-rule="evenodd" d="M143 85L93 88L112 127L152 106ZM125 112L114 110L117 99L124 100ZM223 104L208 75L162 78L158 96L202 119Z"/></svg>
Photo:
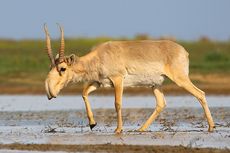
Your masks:
<svg viewBox="0 0 230 153"><path fill-rule="evenodd" d="M117 112L117 128L114 131L115 133L122 132L122 113L121 113L121 106L122 106L122 94L123 94L123 77L113 77L111 78L114 91L115 91L115 108Z"/></svg>

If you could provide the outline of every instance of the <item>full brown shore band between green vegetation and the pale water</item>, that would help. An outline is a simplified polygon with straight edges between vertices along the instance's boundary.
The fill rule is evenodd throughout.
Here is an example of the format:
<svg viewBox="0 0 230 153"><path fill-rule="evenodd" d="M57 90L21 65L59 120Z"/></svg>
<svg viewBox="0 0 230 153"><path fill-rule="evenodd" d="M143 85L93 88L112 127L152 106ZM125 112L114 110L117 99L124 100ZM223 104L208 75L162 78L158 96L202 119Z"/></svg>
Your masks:
<svg viewBox="0 0 230 153"><path fill-rule="evenodd" d="M190 75L192 82L207 95L230 95L230 76L225 74L192 74ZM162 85L165 95L186 95L189 94L185 89L178 87L175 83L166 79ZM65 87L60 94L76 95L81 94L83 90L82 84L70 84ZM92 94L95 95L112 95L113 88L99 88ZM0 84L0 94L46 94L44 87L44 79L12 79ZM125 88L124 94L128 95L152 95L151 88Z"/></svg>

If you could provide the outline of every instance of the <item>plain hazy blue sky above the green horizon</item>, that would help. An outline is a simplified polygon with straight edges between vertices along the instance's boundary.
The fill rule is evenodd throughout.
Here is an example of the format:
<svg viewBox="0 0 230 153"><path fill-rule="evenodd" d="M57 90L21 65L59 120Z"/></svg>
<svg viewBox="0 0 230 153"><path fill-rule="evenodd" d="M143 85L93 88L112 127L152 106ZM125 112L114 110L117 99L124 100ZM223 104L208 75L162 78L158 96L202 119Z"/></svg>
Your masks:
<svg viewBox="0 0 230 153"><path fill-rule="evenodd" d="M230 40L230 0L0 0L0 38L202 36Z"/></svg>

